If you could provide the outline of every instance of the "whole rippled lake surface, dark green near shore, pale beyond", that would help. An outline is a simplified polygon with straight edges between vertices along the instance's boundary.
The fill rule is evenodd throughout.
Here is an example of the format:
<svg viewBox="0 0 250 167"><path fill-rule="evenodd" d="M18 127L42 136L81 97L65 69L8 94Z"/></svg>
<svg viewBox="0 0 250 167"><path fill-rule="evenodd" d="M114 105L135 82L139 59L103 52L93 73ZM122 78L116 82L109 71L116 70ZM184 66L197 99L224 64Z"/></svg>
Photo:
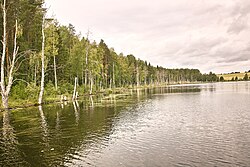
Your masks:
<svg viewBox="0 0 250 167"><path fill-rule="evenodd" d="M0 119L0 166L250 166L250 82L93 97Z"/></svg>

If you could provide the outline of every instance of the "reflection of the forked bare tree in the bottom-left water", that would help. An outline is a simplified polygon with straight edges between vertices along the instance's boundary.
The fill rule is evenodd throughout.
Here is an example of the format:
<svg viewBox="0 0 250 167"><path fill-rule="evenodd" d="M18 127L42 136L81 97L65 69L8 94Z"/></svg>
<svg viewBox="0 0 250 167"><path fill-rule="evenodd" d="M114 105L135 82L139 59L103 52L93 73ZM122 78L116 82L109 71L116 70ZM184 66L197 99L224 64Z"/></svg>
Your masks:
<svg viewBox="0 0 250 167"><path fill-rule="evenodd" d="M14 128L10 124L9 111L3 112L3 128L1 134L1 161L0 166L25 166L21 152L18 149L18 140Z"/></svg>

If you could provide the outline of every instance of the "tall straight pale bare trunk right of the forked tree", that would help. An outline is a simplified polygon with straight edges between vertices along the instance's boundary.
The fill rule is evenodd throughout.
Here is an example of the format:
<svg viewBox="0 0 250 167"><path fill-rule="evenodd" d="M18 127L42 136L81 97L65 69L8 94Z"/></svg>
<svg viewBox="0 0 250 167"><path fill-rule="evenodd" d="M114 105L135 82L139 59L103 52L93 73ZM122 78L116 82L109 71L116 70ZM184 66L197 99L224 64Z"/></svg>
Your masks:
<svg viewBox="0 0 250 167"><path fill-rule="evenodd" d="M42 25L42 56L41 56L41 61L42 61L42 77L41 77L41 90L38 98L38 104L42 104L43 101L43 92L44 92L44 71L45 71L45 58L44 58L44 45L45 45L45 34L44 34L44 26L45 26L45 16L43 17L43 25Z"/></svg>

